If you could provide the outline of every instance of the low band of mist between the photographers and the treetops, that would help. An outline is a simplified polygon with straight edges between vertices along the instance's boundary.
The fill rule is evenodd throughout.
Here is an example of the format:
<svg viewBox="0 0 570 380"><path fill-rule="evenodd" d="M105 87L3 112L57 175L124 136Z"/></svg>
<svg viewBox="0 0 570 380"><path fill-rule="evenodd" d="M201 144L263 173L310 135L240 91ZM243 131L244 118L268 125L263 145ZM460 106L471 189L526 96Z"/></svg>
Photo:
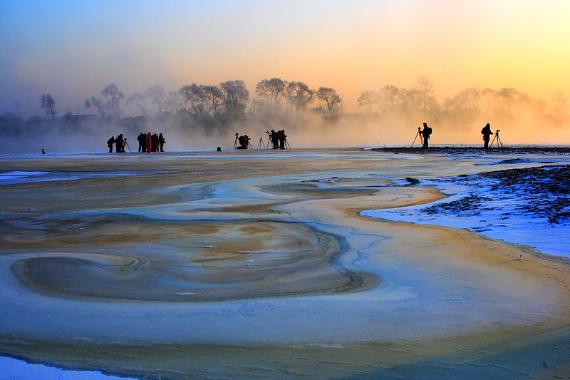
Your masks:
<svg viewBox="0 0 570 380"><path fill-rule="evenodd" d="M259 101L259 97L256 98ZM532 108L512 108L491 113L479 108L424 110L408 103L395 103L382 111L369 113L327 113L322 104L304 111L284 107L250 106L242 115L217 117L197 115L186 108L160 115L89 118L30 118L2 123L0 153L105 153L107 140L119 133L127 139L127 153L138 151L140 133L162 133L166 152L232 150L235 135L248 135L250 148L266 148L267 132L285 130L291 148L338 146L411 146L422 123L433 129L430 145L482 145L480 130L486 123L499 129L502 143L509 145L561 145L570 141L566 118L540 115ZM247 110L247 108L246 108ZM77 115L76 115L77 116ZM415 143L420 146L419 141ZM160 153L157 153L160 154Z"/></svg>

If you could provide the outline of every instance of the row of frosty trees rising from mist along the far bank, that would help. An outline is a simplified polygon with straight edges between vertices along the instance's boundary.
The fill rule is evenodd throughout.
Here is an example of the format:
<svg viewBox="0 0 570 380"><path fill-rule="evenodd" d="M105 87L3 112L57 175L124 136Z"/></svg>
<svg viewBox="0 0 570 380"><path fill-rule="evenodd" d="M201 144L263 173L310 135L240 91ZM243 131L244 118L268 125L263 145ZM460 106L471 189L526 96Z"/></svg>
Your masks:
<svg viewBox="0 0 570 380"><path fill-rule="evenodd" d="M212 118L219 123L232 123L249 113L321 113L327 118L338 118L343 113L343 100L334 88L321 86L310 88L301 81L284 81L281 78L263 79L255 87L257 98L250 99L244 81L225 81L219 85L192 83L177 91L166 91L162 85L149 86L143 91L125 98L123 91L115 83L103 88L99 95L84 101L86 108L93 109L105 118L120 118L123 101L133 105L140 115L150 118L164 113L189 113L196 118ZM399 88L387 84L378 91L363 91L357 100L364 114L385 113L395 106L415 110L452 113L468 108L488 114L532 111L535 115L564 121L569 115L568 98L561 91L551 94L554 113L546 113L547 103L532 98L516 88L470 87L437 101L434 83L427 76L419 76L413 86ZM40 98L41 109L46 118L55 119L58 114L56 100L50 94ZM19 102L13 105L18 114L24 108ZM249 109L248 109L249 106Z"/></svg>

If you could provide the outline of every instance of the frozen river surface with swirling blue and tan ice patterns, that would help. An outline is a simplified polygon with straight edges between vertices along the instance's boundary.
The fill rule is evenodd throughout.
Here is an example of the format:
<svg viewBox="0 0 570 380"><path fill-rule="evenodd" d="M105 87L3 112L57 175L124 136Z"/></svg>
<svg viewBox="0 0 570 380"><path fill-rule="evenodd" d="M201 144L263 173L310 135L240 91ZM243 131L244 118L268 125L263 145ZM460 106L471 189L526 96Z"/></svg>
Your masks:
<svg viewBox="0 0 570 380"><path fill-rule="evenodd" d="M431 180L542 166L542 157L136 156L4 164L4 354L135 378L374 378L434 367L453 376L474 363L511 376L475 352L568 322L570 294L557 277L568 262L543 265L538 244L554 236L545 253L566 251L566 227L527 218L534 244L492 215L477 216L485 237L472 219L459 225L419 208L469 192ZM492 361L512 361L506 352Z"/></svg>

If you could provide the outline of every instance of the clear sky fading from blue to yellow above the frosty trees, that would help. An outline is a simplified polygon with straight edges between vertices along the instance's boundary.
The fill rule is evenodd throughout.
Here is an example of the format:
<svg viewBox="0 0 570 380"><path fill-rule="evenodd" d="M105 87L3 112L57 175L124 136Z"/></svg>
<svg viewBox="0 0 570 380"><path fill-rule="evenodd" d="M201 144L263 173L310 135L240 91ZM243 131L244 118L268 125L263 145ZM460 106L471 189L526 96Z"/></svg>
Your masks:
<svg viewBox="0 0 570 380"><path fill-rule="evenodd" d="M115 83L304 81L358 111L362 91L428 76L441 102L466 87L514 87L551 108L570 96L570 1L0 1L0 113L59 114ZM133 110L134 111L134 110ZM136 111L133 112L136 114Z"/></svg>

